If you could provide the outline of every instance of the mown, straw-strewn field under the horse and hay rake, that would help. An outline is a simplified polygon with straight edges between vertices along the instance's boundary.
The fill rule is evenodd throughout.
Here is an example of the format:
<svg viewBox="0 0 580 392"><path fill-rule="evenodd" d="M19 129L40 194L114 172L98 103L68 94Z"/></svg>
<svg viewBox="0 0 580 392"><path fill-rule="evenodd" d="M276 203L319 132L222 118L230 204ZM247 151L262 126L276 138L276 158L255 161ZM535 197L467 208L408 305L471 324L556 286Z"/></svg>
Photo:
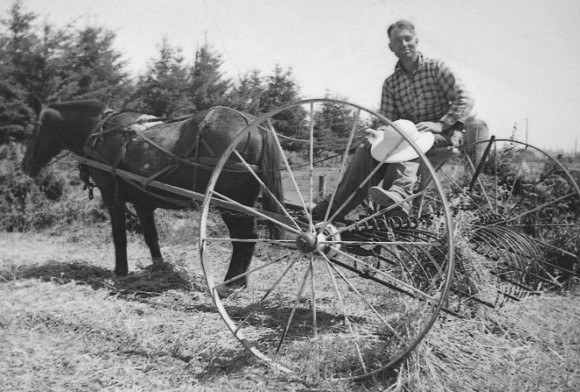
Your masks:
<svg viewBox="0 0 580 392"><path fill-rule="evenodd" d="M577 391L578 293L545 294L473 318L442 317L400 367L362 382L279 374L213 307L195 214L161 220L166 265L138 235L131 274L112 273L106 223L0 236L3 391Z"/></svg>

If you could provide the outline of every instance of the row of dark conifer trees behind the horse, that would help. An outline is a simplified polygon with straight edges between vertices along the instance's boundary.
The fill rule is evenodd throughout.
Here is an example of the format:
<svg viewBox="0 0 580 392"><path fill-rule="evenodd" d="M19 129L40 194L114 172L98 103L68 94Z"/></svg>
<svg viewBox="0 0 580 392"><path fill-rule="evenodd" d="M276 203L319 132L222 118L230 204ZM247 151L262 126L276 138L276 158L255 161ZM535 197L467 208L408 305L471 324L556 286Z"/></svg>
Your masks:
<svg viewBox="0 0 580 392"><path fill-rule="evenodd" d="M222 56L204 42L194 60L163 39L146 71L132 78L116 34L101 26L54 26L16 0L0 16L0 141L23 140L30 95L42 102L97 99L112 109L176 117L216 105L259 114L300 98L292 69L251 70L232 80Z"/></svg>

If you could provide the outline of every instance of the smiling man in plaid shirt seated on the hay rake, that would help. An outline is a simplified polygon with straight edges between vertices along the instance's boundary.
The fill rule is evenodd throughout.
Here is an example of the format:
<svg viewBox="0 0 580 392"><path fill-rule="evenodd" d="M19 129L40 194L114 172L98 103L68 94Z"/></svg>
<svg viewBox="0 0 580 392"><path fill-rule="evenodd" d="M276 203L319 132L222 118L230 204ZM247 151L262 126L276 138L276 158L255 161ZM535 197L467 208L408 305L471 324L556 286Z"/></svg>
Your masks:
<svg viewBox="0 0 580 392"><path fill-rule="evenodd" d="M383 84L380 114L391 121L410 120L420 132L434 134L434 147L452 148L460 142L458 135L473 108L471 95L445 63L426 58L417 50L419 40L411 22L393 23L387 36L389 49L399 61ZM373 137L377 131L368 132ZM343 217L364 199L367 191L377 204L395 204L397 212L408 216L411 203L407 199L417 182L419 159L386 164L370 181L372 184L361 184L361 178L366 178L377 164L370 154L370 142L357 148L338 185L330 216ZM376 186L381 179L382 187ZM375 186L369 190L371 185ZM312 210L313 216L324 217L328 204L319 203Z"/></svg>

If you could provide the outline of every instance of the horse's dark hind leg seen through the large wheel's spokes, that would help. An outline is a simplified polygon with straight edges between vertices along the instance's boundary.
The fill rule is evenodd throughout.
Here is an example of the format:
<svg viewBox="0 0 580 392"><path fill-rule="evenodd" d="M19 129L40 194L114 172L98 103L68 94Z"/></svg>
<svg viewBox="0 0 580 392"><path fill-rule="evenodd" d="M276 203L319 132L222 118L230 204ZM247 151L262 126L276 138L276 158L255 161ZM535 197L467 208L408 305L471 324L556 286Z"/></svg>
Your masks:
<svg viewBox="0 0 580 392"><path fill-rule="evenodd" d="M233 216L223 214L222 218L228 227L230 238L232 238L233 252L230 266L225 277L225 281L234 279L245 273L250 267L254 254L255 242L240 242L236 239L257 239L256 223L254 218L247 216ZM241 276L232 282L227 283L227 287L222 287L221 296L227 296L233 289L246 287L248 280L246 276ZM223 291L223 293L222 293Z"/></svg>

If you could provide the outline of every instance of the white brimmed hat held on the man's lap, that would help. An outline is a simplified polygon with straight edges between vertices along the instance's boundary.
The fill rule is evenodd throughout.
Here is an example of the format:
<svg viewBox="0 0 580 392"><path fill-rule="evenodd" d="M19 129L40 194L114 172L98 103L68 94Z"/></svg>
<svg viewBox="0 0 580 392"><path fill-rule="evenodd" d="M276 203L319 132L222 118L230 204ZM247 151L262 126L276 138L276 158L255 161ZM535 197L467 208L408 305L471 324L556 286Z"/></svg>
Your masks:
<svg viewBox="0 0 580 392"><path fill-rule="evenodd" d="M397 120L393 124L413 141L421 152L427 152L433 147L435 136L431 132L419 132L415 124L409 120ZM369 138L371 155L374 159L393 163L409 161L419 156L419 153L394 127L389 125L379 129L383 132L377 132L375 138Z"/></svg>

